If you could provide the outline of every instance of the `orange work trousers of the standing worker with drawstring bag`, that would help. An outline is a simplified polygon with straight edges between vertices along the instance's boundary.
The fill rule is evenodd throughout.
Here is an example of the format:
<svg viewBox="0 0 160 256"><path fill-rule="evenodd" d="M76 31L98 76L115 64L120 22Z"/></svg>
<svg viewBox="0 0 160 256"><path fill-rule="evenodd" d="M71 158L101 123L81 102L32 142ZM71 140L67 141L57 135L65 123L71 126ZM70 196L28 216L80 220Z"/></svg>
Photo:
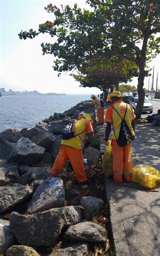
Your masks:
<svg viewBox="0 0 160 256"><path fill-rule="evenodd" d="M124 175L126 181L132 181L131 142L125 147L119 147L116 139L112 139L111 146L113 155L113 179L116 182L122 182Z"/></svg>

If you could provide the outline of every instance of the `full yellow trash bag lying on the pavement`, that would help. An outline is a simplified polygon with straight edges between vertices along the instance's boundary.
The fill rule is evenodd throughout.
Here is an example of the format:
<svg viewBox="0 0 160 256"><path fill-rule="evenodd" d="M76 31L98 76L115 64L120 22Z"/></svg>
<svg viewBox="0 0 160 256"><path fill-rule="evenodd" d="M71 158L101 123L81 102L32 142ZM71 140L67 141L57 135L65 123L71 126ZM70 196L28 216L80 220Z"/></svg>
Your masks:
<svg viewBox="0 0 160 256"><path fill-rule="evenodd" d="M160 182L160 171L146 164L137 164L132 169L132 181L143 187L156 187Z"/></svg>

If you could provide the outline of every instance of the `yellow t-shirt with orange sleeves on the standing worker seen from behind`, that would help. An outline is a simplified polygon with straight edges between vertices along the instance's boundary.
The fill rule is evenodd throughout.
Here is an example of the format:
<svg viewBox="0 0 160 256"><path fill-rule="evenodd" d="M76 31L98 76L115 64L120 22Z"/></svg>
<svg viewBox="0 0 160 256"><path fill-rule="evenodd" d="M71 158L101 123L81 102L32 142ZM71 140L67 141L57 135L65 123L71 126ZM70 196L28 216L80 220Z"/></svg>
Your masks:
<svg viewBox="0 0 160 256"><path fill-rule="evenodd" d="M122 100L118 100L118 101L115 101L112 106L117 110L117 112L120 114L120 116L122 118L124 118L125 112L126 112L126 103L123 102ZM105 123L113 124L115 134L113 132L112 138L118 139L122 119L119 117L119 115L114 110L114 108L112 108L112 107L107 108ZM133 136L135 135L135 133L133 131L131 123L132 123L132 120L134 120L135 118L136 118L136 116L134 114L132 107L129 104L127 104L127 112L126 112L126 116L125 116L125 121L126 121L128 127L130 128ZM115 135L116 135L116 138L115 138Z"/></svg>

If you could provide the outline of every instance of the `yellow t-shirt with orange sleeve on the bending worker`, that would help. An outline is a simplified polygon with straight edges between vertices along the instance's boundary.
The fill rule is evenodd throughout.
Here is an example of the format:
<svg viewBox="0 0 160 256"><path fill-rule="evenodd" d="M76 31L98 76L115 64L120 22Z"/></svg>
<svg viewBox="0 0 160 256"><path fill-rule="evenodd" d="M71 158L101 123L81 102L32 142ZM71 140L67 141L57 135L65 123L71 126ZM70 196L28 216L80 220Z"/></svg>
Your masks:
<svg viewBox="0 0 160 256"><path fill-rule="evenodd" d="M70 146L70 147L73 147L76 149L81 149L81 145L82 145L82 142L83 142L86 132L87 132L87 134L89 134L89 133L93 132L94 130L93 130L91 122L88 119L85 119L83 117L80 117L80 120L76 120L75 124L76 124L76 130L75 130L74 134L76 135L81 132L82 133L77 135L74 138L71 138L71 139L62 139L61 143L62 143L62 145L65 145L65 146Z"/></svg>

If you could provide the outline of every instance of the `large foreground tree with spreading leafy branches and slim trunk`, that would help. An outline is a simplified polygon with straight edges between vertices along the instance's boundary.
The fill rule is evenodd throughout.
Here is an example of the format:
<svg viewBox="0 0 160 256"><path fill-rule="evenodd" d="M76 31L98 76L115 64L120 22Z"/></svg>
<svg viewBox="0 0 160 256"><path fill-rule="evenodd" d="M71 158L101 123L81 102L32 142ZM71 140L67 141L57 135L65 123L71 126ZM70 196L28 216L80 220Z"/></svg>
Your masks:
<svg viewBox="0 0 160 256"><path fill-rule="evenodd" d="M49 4L45 9L53 12L53 22L39 25L39 32L30 29L19 34L20 39L35 37L39 33L56 35L54 44L41 44L43 54L54 54L54 70L62 72L80 68L93 57L121 56L139 67L136 107L140 118L144 101L146 62L159 52L159 4L157 0L87 0L94 11L81 11L68 5L61 10ZM59 74L58 74L59 75Z"/></svg>

